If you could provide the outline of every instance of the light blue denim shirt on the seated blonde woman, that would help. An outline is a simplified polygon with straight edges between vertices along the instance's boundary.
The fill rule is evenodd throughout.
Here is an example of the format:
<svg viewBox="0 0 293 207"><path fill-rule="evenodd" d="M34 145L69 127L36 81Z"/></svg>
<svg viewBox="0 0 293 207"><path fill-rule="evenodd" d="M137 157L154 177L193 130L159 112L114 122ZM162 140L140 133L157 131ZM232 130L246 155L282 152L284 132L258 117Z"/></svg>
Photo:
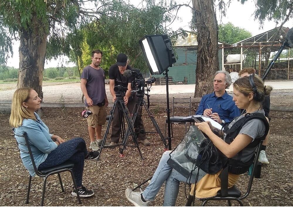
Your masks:
<svg viewBox="0 0 293 207"><path fill-rule="evenodd" d="M44 162L48 156L48 153L57 148L57 144L51 139L52 134L49 133L49 128L40 119L37 113L35 113L36 121L32 119L23 119L22 125L14 129L14 137L18 142L18 148L20 150L21 160L28 169L31 176L35 176L33 169L33 163L26 147L26 140L22 136L26 132L29 145L33 153L35 165L38 169L39 165Z"/></svg>

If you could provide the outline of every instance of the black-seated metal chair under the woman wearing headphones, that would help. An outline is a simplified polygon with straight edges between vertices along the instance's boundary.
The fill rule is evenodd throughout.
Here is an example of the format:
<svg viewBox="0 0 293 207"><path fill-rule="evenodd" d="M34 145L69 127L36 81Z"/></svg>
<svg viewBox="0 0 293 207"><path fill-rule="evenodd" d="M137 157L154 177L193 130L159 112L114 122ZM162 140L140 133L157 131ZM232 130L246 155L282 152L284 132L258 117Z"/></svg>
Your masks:
<svg viewBox="0 0 293 207"><path fill-rule="evenodd" d="M246 193L243 196L241 196L241 191L236 187L236 185L233 185L231 188L229 188L228 193L227 193L227 189L226 190L222 189L223 187L221 186L221 190L218 191L218 193L217 193L217 195L215 197L200 199L202 201L201 206L205 206L205 204L208 201L220 201L220 200L227 200L228 201L228 206L231 206L231 200L235 200L240 204L240 206L243 206L243 203L242 203L241 200L247 198L247 196L250 193L251 186L252 186L252 183L253 183L253 178L254 178L255 172L256 172L256 166L257 166L257 163L258 163L258 157L260 155L261 145L262 145L262 141L258 144L255 160L254 160L254 163L253 163L253 169L252 169L252 173L251 173L251 176L250 176L250 179L249 179L249 183L248 183ZM227 195L222 196L224 194L227 194ZM186 206L191 206L191 204L193 202L194 202L194 196L189 195L187 203L186 203Z"/></svg>

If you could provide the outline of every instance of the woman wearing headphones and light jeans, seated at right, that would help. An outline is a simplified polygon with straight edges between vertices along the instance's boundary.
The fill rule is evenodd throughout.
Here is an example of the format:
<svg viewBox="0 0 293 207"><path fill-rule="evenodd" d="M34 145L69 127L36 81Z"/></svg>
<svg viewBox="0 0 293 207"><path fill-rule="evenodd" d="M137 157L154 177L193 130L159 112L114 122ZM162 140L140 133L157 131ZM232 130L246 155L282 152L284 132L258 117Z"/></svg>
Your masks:
<svg viewBox="0 0 293 207"><path fill-rule="evenodd" d="M264 139L268 131L268 123L264 117L265 112L260 109L260 102L263 100L264 96L270 94L272 87L264 86L262 80L253 75L236 80L233 86L233 101L235 101L238 108L244 108L246 114L236 117L225 127L224 131L220 132L215 132L215 128L212 127L209 122L195 123L195 125L209 137L211 142L213 142L226 158L231 158L235 160L236 163L241 162L246 164L247 166L245 165L245 167L243 167L244 171L246 167L249 168L250 164L248 165L248 163L254 159L254 152L260 139ZM256 115L254 113L260 113L257 114L260 118L248 119L248 117ZM245 121L242 122L241 120ZM236 123L243 123L243 125L237 128L239 132L236 132L238 133L233 134L231 132L233 129L232 127ZM186 182L187 179L167 164L170 152L171 151L167 151L163 154L150 184L142 193L133 192L129 188L126 189L125 194L128 201L135 206L148 206L149 202L155 199L162 184L166 182L163 206L175 206L179 191L179 183ZM236 166L234 168L232 166L231 169L238 169L238 167ZM244 173L234 171L236 170L229 169L228 187L232 187L237 182L240 176L239 174ZM206 174L200 169L199 178L195 186L195 196L197 198L216 196L217 192L221 189L220 173L221 170L216 174ZM196 176L197 175L192 175L190 183L196 182Z"/></svg>

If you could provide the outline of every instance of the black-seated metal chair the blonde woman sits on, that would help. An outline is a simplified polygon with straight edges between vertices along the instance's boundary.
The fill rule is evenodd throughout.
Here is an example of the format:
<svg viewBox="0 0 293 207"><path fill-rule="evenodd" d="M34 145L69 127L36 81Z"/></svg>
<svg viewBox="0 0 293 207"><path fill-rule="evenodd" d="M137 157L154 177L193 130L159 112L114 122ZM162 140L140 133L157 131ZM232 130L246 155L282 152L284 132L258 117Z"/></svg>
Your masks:
<svg viewBox="0 0 293 207"><path fill-rule="evenodd" d="M13 133L14 133L14 130L13 130ZM70 161L66 161L66 162L64 162L64 163L62 163L60 165L57 165L57 166L54 166L54 167L50 167L50 168L46 168L46 169L41 169L41 170L38 171L38 169L37 169L37 167L35 165L35 161L33 159L33 153L31 151L31 146L29 145L28 137L27 137L26 133L24 133L23 135L17 135L17 136L22 136L26 140L26 144L25 145L28 147L28 153L30 154L30 157L31 157L31 161L33 163L33 168L34 168L35 174L37 176L39 176L39 177L43 177L44 178L43 193L42 193L42 200L41 200L41 205L40 206L43 206L44 205L46 181L47 181L47 178L50 175L52 175L52 174L58 174L59 182L60 182L60 186L61 186L62 192L65 192L64 187L63 187L63 184L62 184L61 176L60 176L60 172L65 172L65 171L69 171L70 174L71 174L72 181L73 181L73 185L74 185L74 189L75 189L76 194L77 194L78 203L81 204L82 202L80 200L79 193L78 193L78 190L77 190L77 185L76 185L76 182L75 182L75 179L74 179L74 174L72 172L72 168L74 166L74 163L73 162L70 162ZM22 143L17 142L17 144L18 145L21 145ZM28 192L27 192L27 195L26 195L26 204L28 204L28 200L29 200L29 196L30 196L31 181L32 181L32 176L30 175L29 178L28 178Z"/></svg>

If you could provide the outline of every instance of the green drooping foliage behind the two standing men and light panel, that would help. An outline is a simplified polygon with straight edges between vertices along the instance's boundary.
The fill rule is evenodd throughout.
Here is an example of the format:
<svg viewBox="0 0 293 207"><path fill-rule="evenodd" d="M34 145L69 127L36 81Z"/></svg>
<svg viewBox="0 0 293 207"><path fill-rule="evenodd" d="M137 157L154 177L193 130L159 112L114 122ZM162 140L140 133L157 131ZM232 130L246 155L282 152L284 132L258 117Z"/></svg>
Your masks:
<svg viewBox="0 0 293 207"><path fill-rule="evenodd" d="M113 12L108 14L107 11ZM70 41L70 46L74 48L70 57L71 60L78 60L80 71L92 62L90 53L94 49L103 52L101 67L106 74L121 52L128 55L133 68L146 71L148 68L139 40L145 35L163 33L168 33L173 38L177 37L177 31L171 33L164 27L172 21L172 16L167 12L163 1L160 4L146 1L146 7L138 9L124 1L114 0L109 7L103 7L101 13L104 15L99 19L68 35L68 39L74 40Z"/></svg>

